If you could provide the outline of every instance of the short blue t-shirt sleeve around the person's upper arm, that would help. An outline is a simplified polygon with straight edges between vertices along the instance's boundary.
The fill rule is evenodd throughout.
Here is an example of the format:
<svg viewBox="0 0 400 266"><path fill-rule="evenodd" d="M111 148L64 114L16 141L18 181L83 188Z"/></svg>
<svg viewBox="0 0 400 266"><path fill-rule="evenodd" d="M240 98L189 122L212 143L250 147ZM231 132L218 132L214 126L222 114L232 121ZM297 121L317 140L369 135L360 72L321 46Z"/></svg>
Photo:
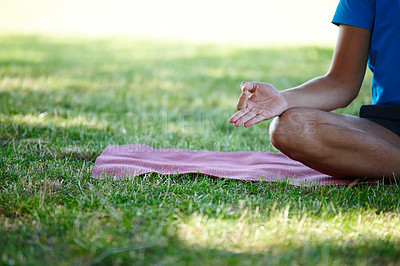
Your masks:
<svg viewBox="0 0 400 266"><path fill-rule="evenodd" d="M372 0L340 0L332 23L372 30L374 11Z"/></svg>

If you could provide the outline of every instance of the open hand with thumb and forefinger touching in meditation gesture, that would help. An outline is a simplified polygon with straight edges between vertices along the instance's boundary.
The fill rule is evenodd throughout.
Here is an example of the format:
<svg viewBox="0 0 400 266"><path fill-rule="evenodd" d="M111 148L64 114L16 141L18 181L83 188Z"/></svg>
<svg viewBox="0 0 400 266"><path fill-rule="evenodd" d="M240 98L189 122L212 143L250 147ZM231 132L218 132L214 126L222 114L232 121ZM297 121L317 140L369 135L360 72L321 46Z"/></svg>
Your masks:
<svg viewBox="0 0 400 266"><path fill-rule="evenodd" d="M242 94L237 103L236 114L229 122L235 127L249 127L283 113L288 104L274 86L260 82L242 82ZM249 97L249 93L251 96Z"/></svg>

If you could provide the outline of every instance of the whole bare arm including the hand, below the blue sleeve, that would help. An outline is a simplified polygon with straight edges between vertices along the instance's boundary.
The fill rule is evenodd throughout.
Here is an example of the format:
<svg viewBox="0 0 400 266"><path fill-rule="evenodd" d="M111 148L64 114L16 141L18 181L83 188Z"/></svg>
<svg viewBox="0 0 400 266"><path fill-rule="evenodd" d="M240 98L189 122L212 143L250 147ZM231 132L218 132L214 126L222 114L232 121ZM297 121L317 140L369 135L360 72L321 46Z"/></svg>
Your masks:
<svg viewBox="0 0 400 266"><path fill-rule="evenodd" d="M293 107L331 111L349 105L358 95L364 79L371 32L341 25L331 67L322 77L282 92L259 82L242 83L243 92L229 122L252 126Z"/></svg>

